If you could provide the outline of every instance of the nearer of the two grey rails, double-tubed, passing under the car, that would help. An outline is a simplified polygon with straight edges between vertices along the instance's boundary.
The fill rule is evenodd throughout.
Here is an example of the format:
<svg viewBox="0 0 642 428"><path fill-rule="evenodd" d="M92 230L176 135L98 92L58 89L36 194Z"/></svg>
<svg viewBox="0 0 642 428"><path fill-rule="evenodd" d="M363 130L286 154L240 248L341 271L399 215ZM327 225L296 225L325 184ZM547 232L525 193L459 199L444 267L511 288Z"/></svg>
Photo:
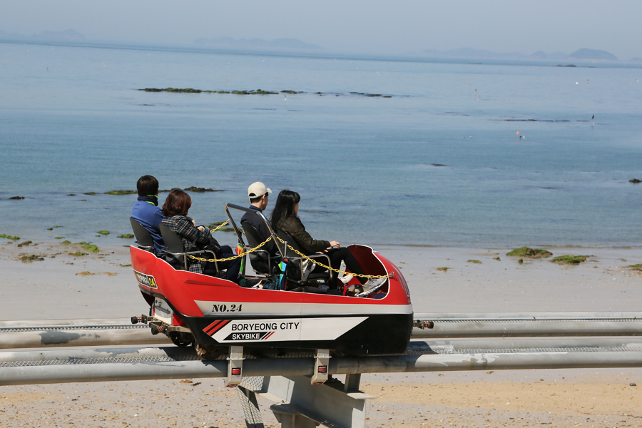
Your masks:
<svg viewBox="0 0 642 428"><path fill-rule="evenodd" d="M642 367L642 341L603 339L412 342L404 355L332 357L332 374L518 370L588 367ZM246 356L243 375L310 375L315 360ZM192 348L123 348L3 352L0 384L100 382L184 377L227 377L226 360L202 361Z"/></svg>

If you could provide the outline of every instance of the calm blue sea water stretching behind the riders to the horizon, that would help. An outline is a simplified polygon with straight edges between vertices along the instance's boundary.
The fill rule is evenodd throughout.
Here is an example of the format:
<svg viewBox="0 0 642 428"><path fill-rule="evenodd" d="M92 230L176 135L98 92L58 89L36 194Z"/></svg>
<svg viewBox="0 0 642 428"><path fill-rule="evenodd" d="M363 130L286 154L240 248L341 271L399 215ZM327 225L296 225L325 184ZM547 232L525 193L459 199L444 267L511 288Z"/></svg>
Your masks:
<svg viewBox="0 0 642 428"><path fill-rule="evenodd" d="M0 233L126 244L136 195L101 193L151 174L223 190L191 193L199 224L262 181L268 214L295 190L312 237L342 244L641 244L635 64L16 43L0 58Z"/></svg>

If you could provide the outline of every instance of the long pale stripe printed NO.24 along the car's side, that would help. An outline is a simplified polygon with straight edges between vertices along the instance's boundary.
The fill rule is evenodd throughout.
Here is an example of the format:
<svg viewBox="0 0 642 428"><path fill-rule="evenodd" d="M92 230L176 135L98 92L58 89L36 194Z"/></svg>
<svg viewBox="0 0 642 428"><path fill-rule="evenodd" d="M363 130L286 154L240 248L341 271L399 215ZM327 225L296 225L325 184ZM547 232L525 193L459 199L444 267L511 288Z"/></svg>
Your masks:
<svg viewBox="0 0 642 428"><path fill-rule="evenodd" d="M203 315L249 315L285 317L300 315L412 314L412 305L350 305L346 303L270 303L194 301Z"/></svg>

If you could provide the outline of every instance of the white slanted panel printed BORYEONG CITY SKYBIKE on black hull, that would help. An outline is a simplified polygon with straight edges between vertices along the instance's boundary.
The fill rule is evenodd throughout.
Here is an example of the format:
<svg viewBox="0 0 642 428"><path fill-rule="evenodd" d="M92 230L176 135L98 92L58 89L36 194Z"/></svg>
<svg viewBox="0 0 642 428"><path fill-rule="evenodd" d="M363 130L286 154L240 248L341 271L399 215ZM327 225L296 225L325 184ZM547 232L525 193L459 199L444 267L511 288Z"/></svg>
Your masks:
<svg viewBox="0 0 642 428"><path fill-rule="evenodd" d="M232 320L212 336L219 343L335 340L367 317Z"/></svg>

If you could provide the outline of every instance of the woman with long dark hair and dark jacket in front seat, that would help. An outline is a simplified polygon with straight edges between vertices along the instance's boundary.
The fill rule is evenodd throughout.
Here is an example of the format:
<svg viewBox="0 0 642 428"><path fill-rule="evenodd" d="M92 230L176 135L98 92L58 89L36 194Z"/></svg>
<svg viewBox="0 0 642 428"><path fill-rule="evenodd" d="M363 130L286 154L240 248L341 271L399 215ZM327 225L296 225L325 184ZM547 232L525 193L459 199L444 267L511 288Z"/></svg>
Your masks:
<svg viewBox="0 0 642 428"><path fill-rule="evenodd" d="M296 241L297 245L299 245L302 253L306 255L326 253L330 258L330 265L335 269L341 267L341 261L343 260L350 272L363 275L363 270L359 262L357 262L355 256L350 253L350 250L341 248L340 243L334 240L315 240L310 236L310 233L305 231L305 226L298 216L300 200L301 197L298 193L292 190L281 190L281 193L279 193L277 197L277 202L274 205L274 210L272 210L272 215L270 216L272 228L282 230L282 232L290 235L292 239ZM320 269L320 267L316 269ZM339 274L333 271L332 279L328 284L330 290L337 288L337 277L339 277ZM385 278L372 278L367 280L366 278L357 277L357 279L364 286L365 290L376 287L385 281Z"/></svg>

